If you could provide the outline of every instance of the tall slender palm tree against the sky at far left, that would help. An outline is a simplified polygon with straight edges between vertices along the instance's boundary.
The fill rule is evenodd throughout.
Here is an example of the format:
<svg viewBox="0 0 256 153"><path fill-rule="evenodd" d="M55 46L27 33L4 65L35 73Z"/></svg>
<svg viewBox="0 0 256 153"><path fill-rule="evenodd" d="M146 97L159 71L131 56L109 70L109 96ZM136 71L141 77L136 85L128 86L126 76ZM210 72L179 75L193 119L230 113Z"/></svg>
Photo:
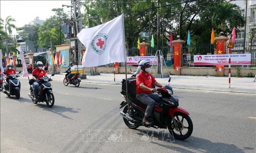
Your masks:
<svg viewBox="0 0 256 153"><path fill-rule="evenodd" d="M7 41L8 34L7 34L7 30L9 32L9 34L12 34L12 32L13 32L12 29L16 28L16 26L12 23L13 21L16 21L16 20L13 19L11 16L6 17L4 23L2 23L2 20L1 20L1 25L3 25L4 28L5 28L5 42L6 42L6 53L7 54L8 54L8 41Z"/></svg>

